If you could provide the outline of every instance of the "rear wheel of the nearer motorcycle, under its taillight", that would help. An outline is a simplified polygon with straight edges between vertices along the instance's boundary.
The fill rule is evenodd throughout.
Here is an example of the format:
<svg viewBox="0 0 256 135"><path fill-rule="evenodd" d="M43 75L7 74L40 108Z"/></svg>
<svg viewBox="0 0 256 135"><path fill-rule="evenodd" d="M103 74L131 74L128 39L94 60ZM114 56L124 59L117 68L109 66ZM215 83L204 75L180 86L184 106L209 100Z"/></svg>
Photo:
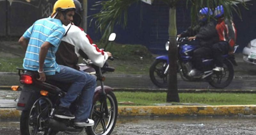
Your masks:
<svg viewBox="0 0 256 135"><path fill-rule="evenodd" d="M51 101L40 97L28 106L29 109L23 110L20 116L21 135L52 135L52 130L45 125L52 109Z"/></svg>

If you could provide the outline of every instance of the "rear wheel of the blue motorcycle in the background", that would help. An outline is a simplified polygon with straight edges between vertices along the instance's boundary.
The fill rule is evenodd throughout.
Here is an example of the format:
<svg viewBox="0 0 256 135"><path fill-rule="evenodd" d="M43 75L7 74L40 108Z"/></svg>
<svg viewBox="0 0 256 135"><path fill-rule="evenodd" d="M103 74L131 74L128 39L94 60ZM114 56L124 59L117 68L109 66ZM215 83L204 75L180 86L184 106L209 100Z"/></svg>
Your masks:
<svg viewBox="0 0 256 135"><path fill-rule="evenodd" d="M209 84L215 88L225 88L227 87L234 78L234 68L230 61L224 60L223 64L224 71L213 72L211 76L211 81Z"/></svg>

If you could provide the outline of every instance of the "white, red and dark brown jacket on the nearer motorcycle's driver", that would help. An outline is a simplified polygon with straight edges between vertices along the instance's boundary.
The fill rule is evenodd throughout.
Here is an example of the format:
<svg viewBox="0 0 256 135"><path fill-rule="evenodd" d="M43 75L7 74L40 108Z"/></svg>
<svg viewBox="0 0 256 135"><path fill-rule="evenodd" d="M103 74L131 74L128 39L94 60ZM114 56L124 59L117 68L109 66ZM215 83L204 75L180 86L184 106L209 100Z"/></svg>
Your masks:
<svg viewBox="0 0 256 135"><path fill-rule="evenodd" d="M92 44L92 39L84 30L78 26L69 24L63 27L67 35L61 39L56 62L60 65L69 66L79 70L77 66L79 56L88 56L93 64L102 67L108 59L108 54L100 50L97 45ZM85 55L84 55L85 54Z"/></svg>

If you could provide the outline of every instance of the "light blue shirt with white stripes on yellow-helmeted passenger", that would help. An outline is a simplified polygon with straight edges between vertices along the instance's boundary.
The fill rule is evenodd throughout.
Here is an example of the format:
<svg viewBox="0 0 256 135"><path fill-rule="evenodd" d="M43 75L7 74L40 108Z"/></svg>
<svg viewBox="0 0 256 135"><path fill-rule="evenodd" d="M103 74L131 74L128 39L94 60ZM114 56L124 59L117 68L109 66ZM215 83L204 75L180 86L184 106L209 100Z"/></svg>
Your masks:
<svg viewBox="0 0 256 135"><path fill-rule="evenodd" d="M45 75L54 75L60 72L59 65L56 63L55 53L60 41L65 34L65 29L59 19L51 17L39 19L23 34L29 40L23 67L28 70L37 71L39 69L39 51L42 44L47 41L52 44L44 60Z"/></svg>

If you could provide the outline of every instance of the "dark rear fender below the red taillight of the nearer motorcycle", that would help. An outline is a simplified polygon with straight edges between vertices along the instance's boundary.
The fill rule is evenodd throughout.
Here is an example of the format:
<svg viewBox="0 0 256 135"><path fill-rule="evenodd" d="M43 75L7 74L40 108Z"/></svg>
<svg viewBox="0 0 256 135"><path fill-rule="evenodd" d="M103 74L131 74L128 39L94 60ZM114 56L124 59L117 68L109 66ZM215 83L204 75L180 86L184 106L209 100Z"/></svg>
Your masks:
<svg viewBox="0 0 256 135"><path fill-rule="evenodd" d="M21 90L16 109L17 110L30 109L29 104L34 103L34 101L36 101L36 99L38 99L39 97L40 97L40 89L38 89L35 86L24 85Z"/></svg>

